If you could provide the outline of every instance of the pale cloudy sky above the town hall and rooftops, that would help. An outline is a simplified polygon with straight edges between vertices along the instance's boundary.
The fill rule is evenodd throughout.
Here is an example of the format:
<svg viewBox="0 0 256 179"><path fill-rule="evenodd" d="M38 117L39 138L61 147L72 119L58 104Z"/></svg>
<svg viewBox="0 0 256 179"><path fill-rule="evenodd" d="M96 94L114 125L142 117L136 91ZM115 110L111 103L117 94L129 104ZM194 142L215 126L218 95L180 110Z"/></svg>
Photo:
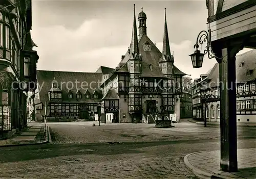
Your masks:
<svg viewBox="0 0 256 179"><path fill-rule="evenodd" d="M194 52L198 33L207 30L205 0L33 0L31 33L40 56L38 69L94 72L99 66L115 68L131 43L133 4L136 17L143 7L147 36L160 51L166 8L170 50L180 70L197 78L216 63L205 57L203 67L195 69L188 56Z"/></svg>

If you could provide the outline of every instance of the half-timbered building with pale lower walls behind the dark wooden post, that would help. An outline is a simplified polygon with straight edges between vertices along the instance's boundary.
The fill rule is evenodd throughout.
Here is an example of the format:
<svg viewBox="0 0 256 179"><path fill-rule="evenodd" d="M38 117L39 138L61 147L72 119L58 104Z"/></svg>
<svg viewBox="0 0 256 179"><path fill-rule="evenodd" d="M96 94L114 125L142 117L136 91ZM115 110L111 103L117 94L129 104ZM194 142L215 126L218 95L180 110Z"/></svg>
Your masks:
<svg viewBox="0 0 256 179"><path fill-rule="evenodd" d="M256 50L236 57L237 122L256 122ZM195 79L192 87L193 118L220 121L219 64Z"/></svg>

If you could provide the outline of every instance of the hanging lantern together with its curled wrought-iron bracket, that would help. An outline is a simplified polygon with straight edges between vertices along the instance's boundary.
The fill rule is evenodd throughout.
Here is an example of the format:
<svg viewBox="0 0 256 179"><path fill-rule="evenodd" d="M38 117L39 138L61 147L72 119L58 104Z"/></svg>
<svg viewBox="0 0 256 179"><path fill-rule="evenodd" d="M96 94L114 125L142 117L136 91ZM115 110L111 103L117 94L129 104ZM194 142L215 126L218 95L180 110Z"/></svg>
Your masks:
<svg viewBox="0 0 256 179"><path fill-rule="evenodd" d="M202 45L206 43L206 47L203 53L200 53L199 44ZM215 58L214 53L212 52L211 45L210 45L210 36L206 31L201 31L197 36L197 42L194 45L196 48L194 54L189 55L191 57L193 68L201 68L203 64L204 55L208 54L208 58L212 59Z"/></svg>

